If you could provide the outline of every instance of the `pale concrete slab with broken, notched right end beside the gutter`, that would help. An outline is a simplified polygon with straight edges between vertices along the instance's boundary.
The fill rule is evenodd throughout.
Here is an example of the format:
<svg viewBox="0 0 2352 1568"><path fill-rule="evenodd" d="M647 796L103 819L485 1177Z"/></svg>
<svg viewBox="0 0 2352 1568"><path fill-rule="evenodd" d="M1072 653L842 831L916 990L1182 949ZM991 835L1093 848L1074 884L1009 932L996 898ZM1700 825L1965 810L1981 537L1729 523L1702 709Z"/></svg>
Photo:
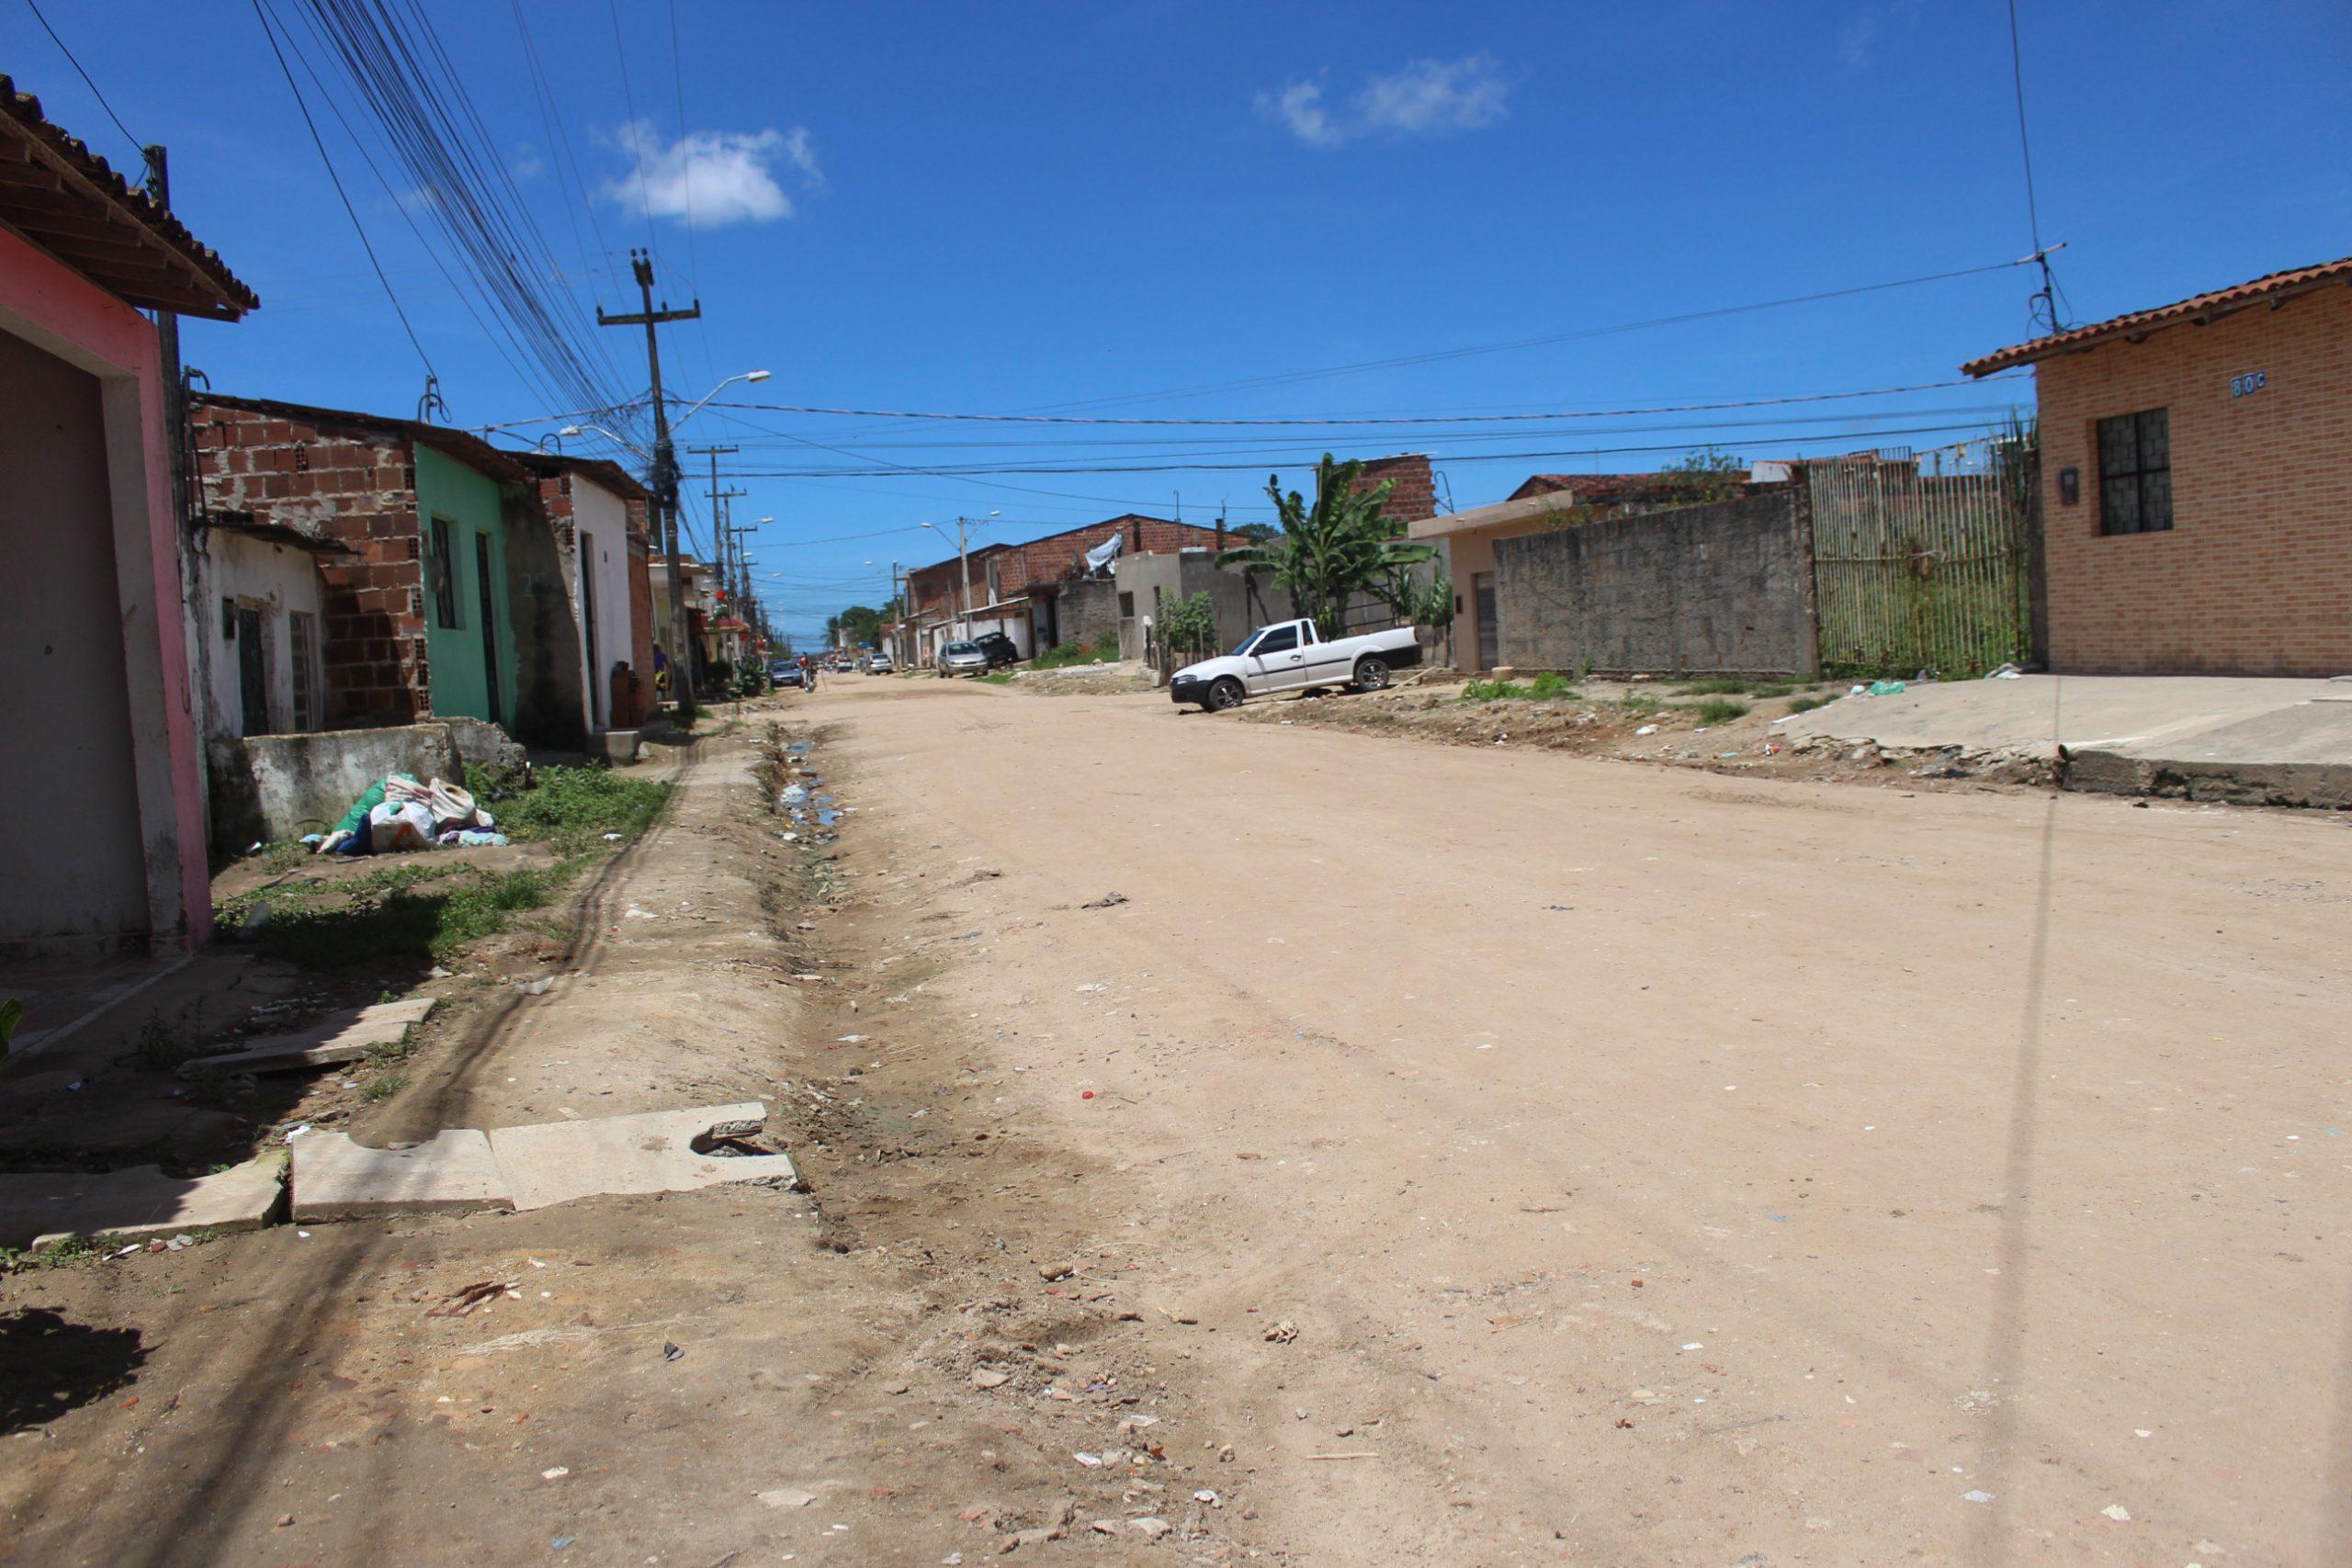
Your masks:
<svg viewBox="0 0 2352 1568"><path fill-rule="evenodd" d="M767 1107L701 1105L595 1121L501 1126L489 1133L515 1208L546 1208L621 1192L691 1192L731 1182L800 1180L790 1154L724 1154L715 1140L767 1126Z"/></svg>

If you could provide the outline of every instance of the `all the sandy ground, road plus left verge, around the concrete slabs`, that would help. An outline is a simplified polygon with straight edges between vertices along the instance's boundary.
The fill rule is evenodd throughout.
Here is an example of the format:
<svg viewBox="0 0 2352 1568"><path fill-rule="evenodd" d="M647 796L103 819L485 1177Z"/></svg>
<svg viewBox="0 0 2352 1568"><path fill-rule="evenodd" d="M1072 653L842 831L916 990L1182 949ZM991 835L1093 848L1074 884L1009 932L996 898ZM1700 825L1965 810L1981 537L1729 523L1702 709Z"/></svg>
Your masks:
<svg viewBox="0 0 2352 1568"><path fill-rule="evenodd" d="M360 1133L760 1095L809 1192L12 1276L0 1556L2352 1561L2343 823L776 710L842 839L703 743Z"/></svg>

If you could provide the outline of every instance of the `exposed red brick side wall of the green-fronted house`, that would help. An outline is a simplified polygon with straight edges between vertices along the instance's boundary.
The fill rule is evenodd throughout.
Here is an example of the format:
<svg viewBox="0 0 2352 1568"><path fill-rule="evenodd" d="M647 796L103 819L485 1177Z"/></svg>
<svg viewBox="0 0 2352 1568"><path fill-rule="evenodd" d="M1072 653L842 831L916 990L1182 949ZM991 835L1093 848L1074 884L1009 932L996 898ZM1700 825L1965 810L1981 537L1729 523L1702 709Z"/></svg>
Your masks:
<svg viewBox="0 0 2352 1568"><path fill-rule="evenodd" d="M327 726L433 717L409 442L205 400L191 402L188 421L207 508L252 512L353 550L320 557Z"/></svg>

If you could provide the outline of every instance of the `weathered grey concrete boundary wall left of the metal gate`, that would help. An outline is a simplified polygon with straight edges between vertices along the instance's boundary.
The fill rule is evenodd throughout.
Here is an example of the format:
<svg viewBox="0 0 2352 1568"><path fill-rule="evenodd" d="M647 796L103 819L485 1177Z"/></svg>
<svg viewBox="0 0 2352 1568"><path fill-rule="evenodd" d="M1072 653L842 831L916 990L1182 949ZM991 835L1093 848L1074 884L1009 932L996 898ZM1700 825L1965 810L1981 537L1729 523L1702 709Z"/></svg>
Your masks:
<svg viewBox="0 0 2352 1568"><path fill-rule="evenodd" d="M1494 541L1501 663L1599 675L1811 675L1802 496L1637 512Z"/></svg>

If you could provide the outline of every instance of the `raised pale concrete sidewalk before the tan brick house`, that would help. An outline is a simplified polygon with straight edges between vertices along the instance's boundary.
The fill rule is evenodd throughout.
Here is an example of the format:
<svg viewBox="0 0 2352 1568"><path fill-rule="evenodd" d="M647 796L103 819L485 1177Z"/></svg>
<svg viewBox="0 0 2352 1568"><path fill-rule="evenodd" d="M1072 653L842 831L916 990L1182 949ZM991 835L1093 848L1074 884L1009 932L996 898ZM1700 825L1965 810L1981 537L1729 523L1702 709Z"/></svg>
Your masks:
<svg viewBox="0 0 2352 1568"><path fill-rule="evenodd" d="M2070 790L2352 806L2352 682L2025 675L1849 696L1780 726L1792 745L2063 757Z"/></svg>

